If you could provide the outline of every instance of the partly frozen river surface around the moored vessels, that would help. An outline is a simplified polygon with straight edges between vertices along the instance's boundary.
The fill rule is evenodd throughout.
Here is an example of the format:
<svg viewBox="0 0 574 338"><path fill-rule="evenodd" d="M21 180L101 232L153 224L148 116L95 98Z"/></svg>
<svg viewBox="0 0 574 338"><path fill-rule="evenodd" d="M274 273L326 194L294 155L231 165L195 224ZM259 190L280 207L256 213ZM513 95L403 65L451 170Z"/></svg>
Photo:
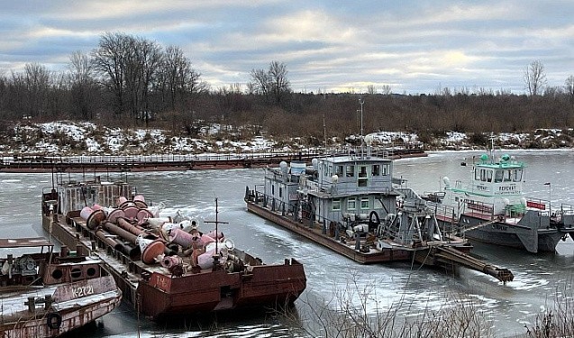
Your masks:
<svg viewBox="0 0 574 338"><path fill-rule="evenodd" d="M527 163L524 190L528 196L551 199L552 206L574 205L574 151L507 151ZM442 177L451 182L468 180L476 151L436 152L428 157L395 161L394 177L405 178L417 192L440 187ZM466 161L468 166L461 166ZM66 174L68 175L68 174ZM87 178L90 175L86 174ZM152 203L163 202L166 214L180 210L210 229L203 221L214 220L215 198L220 230L235 245L264 262L295 257L305 264L307 288L296 301L296 317L278 316L220 318L205 324L166 327L138 319L128 306L98 320L82 331L84 337L309 337L317 334L310 314L337 299L365 306L369 315L392 307L396 315L413 317L445 306L470 302L487 316L497 337L524 335L524 324L532 324L542 309L550 307L560 290L569 289L574 276L574 242L560 242L553 254L529 254L476 243L473 254L482 260L512 270L515 280L503 285L496 279L468 269L449 275L441 270L411 266L405 262L362 266L309 242L296 234L246 211L242 201L245 186L262 184L263 169L193 170L100 174L102 179L127 180ZM70 174L81 179L82 174ZM551 185L544 185L544 183ZM50 187L51 174L0 173L0 236L45 235L41 229L40 200ZM363 295L363 296L360 296ZM300 327L303 327L301 329Z"/></svg>

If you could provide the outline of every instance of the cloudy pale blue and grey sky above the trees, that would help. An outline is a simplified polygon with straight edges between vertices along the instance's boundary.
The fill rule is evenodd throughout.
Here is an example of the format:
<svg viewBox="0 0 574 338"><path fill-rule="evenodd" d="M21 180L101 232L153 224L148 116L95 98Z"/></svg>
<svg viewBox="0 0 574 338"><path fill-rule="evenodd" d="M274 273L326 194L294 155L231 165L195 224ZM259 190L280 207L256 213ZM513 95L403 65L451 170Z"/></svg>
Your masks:
<svg viewBox="0 0 574 338"><path fill-rule="evenodd" d="M0 0L0 74L64 70L105 32L176 45L216 89L287 65L295 91L524 93L542 61L548 85L574 74L574 1Z"/></svg>

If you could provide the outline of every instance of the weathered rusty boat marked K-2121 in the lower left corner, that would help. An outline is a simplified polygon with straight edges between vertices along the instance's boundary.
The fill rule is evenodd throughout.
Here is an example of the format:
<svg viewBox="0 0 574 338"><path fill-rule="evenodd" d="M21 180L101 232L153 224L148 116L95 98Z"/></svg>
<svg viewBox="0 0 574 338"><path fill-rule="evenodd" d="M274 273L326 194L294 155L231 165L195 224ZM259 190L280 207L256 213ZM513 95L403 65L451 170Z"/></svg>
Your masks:
<svg viewBox="0 0 574 338"><path fill-rule="evenodd" d="M0 251L10 252L0 259L2 337L59 337L120 304L101 260L54 252L44 238L2 239Z"/></svg>

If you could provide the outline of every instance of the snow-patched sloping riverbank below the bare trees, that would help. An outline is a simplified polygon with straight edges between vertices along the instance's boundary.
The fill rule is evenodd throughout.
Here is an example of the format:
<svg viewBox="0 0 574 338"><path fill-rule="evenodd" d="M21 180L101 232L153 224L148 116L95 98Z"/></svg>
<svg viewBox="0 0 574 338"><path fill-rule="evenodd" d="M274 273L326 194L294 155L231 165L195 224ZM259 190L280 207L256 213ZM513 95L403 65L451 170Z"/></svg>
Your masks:
<svg viewBox="0 0 574 338"><path fill-rule="evenodd" d="M444 132L419 135L412 132L373 132L365 137L373 145L385 148L422 148L425 151L484 149L495 143L500 148L552 149L574 147L572 129L538 129L533 132L466 134ZM345 140L327 139L328 147L360 143L360 135ZM317 145L317 144L320 145ZM173 134L160 129L108 128L95 123L59 121L53 123L17 123L0 133L0 154L44 156L103 156L244 153L253 151L302 151L322 148L324 142L304 137L276 139L258 135L241 139L231 128L220 124L205 125L196 137Z"/></svg>

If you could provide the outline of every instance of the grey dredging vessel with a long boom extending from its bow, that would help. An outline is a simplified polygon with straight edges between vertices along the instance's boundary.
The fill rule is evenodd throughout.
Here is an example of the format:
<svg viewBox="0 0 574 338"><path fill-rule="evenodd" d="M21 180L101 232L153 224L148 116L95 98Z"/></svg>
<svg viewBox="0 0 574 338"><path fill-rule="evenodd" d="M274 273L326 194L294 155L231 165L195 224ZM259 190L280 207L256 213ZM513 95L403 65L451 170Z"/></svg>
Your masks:
<svg viewBox="0 0 574 338"><path fill-rule="evenodd" d="M416 260L451 269L463 265L506 282L512 272L469 256L457 229L441 226L423 198L393 185L393 161L367 150L281 162L265 184L246 187L247 209L360 263Z"/></svg>

